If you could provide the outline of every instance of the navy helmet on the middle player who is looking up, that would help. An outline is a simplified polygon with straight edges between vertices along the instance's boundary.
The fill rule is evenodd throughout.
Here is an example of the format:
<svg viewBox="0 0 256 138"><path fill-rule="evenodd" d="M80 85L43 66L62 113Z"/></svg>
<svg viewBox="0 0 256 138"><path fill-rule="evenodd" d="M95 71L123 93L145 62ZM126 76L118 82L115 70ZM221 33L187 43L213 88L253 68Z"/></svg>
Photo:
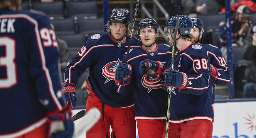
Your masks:
<svg viewBox="0 0 256 138"><path fill-rule="evenodd" d="M137 34L140 35L140 29L142 28L155 28L155 34L159 34L159 25L152 18L145 18L138 23Z"/></svg>

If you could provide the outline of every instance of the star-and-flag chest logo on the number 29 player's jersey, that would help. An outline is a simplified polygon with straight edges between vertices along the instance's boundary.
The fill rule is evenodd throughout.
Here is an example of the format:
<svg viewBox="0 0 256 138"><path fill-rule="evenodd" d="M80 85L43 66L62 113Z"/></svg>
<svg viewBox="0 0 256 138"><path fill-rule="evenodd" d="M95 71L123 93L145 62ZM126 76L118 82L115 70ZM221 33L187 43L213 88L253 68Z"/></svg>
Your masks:
<svg viewBox="0 0 256 138"><path fill-rule="evenodd" d="M106 78L106 81L104 84L108 83L111 80L114 81L115 74L116 74L116 68L120 63L122 63L122 62L120 61L120 59L118 59L117 61L112 61L110 63L107 63L102 68L102 75Z"/></svg>

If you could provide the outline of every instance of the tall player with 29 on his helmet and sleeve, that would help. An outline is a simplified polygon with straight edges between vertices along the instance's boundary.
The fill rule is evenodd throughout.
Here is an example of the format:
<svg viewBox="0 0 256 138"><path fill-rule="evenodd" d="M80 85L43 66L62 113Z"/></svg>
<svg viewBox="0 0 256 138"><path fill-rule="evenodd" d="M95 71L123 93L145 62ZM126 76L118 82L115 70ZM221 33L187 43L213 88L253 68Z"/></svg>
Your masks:
<svg viewBox="0 0 256 138"><path fill-rule="evenodd" d="M63 93L73 107L76 106L75 88L78 77L89 68L87 92L89 97L86 109L98 108L102 117L86 132L86 138L135 137L135 109L132 94L120 95L116 92L114 75L127 51L130 31L130 14L125 8L112 10L108 32L92 35L67 66L65 72L65 89ZM140 46L138 39L133 38L131 47Z"/></svg>

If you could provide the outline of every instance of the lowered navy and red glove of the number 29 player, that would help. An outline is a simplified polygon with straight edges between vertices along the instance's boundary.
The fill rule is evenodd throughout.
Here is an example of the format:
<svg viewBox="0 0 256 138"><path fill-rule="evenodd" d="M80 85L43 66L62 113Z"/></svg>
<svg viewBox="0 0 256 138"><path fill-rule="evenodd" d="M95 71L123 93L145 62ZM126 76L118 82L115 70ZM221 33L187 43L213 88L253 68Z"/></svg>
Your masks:
<svg viewBox="0 0 256 138"><path fill-rule="evenodd" d="M76 85L74 83L66 83L62 88L62 93L64 94L67 104L70 104L72 108L76 107Z"/></svg>

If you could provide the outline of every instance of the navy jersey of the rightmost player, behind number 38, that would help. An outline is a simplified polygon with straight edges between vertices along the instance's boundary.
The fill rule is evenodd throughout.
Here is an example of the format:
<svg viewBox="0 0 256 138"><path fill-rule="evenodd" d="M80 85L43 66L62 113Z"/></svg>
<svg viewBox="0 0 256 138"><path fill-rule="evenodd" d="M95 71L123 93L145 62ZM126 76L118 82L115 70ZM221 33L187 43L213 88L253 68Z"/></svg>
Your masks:
<svg viewBox="0 0 256 138"><path fill-rule="evenodd" d="M229 83L231 78L231 72L229 67L227 66L225 59L222 56L221 50L212 44L201 44L204 47L210 57L210 63L217 68L219 71L219 76L216 77L216 80L212 83L225 86ZM212 92L212 106L214 106L214 99L215 99L215 86L213 85L213 92Z"/></svg>

